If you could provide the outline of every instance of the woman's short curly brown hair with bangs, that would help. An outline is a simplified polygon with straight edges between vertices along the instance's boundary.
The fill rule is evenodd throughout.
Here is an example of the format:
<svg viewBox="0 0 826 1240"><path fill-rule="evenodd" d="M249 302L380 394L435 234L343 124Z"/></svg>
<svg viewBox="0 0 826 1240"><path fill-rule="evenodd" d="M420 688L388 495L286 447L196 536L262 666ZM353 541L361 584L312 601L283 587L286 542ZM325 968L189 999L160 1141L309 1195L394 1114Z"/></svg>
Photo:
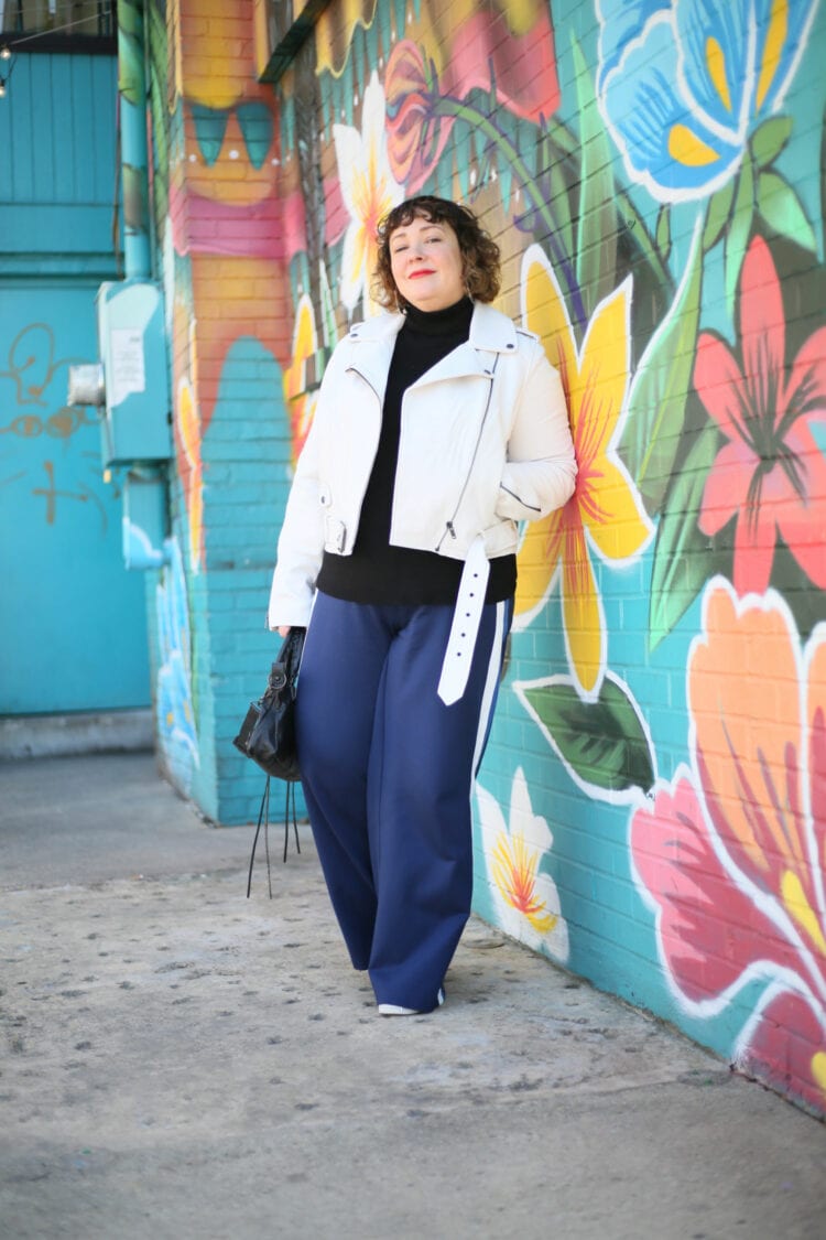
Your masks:
<svg viewBox="0 0 826 1240"><path fill-rule="evenodd" d="M502 284L499 247L489 237L469 207L448 198L421 193L399 203L379 222L376 239L379 260L373 273L372 294L385 310L404 310L407 305L396 288L390 268L390 238L396 228L411 223L417 216L435 224L450 224L456 233L462 254L464 288L476 301L493 301Z"/></svg>

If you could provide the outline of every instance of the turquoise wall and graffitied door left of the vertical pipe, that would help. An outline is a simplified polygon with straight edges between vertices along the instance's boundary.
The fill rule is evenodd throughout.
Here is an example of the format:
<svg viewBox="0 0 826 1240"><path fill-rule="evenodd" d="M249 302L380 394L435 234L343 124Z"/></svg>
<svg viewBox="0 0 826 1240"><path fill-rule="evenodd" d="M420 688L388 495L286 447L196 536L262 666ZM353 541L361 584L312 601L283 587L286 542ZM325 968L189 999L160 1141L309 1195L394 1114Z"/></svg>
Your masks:
<svg viewBox="0 0 826 1240"><path fill-rule="evenodd" d="M19 55L0 100L0 714L146 707L145 583L68 366L116 277L115 64Z"/></svg>

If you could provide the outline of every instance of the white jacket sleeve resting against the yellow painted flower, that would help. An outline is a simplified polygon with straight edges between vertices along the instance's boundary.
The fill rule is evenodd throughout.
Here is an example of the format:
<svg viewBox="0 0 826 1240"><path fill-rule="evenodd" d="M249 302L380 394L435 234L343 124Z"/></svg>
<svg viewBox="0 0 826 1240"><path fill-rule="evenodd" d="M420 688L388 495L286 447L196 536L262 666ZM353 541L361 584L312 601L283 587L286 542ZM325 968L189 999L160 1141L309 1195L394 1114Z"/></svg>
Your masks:
<svg viewBox="0 0 826 1240"><path fill-rule="evenodd" d="M577 464L565 391L539 340L516 401L497 516L539 521L573 495Z"/></svg>

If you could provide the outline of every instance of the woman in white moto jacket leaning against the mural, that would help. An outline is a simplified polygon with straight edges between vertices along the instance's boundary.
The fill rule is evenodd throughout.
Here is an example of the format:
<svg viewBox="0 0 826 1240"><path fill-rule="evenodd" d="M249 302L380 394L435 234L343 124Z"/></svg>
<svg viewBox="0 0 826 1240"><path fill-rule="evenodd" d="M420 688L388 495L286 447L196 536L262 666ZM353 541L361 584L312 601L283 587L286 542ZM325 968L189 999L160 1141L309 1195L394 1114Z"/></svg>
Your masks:
<svg viewBox="0 0 826 1240"><path fill-rule="evenodd" d="M312 622L297 744L350 959L379 1012L443 1002L471 911L473 779L516 584L518 522L576 479L562 386L489 305L499 249L421 196L379 228L376 300L327 366L287 502L270 627Z"/></svg>

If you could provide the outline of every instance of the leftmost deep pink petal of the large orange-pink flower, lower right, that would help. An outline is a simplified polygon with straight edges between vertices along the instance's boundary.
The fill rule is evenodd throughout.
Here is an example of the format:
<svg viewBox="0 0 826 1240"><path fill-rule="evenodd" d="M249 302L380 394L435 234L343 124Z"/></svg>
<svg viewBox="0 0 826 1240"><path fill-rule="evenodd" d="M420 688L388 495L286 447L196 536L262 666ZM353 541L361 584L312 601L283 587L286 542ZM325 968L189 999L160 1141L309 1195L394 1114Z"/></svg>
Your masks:
<svg viewBox="0 0 826 1240"><path fill-rule="evenodd" d="M674 791L661 785L654 807L634 812L630 847L658 906L660 954L691 1003L723 994L758 962L798 967L789 942L721 864L687 779Z"/></svg>

